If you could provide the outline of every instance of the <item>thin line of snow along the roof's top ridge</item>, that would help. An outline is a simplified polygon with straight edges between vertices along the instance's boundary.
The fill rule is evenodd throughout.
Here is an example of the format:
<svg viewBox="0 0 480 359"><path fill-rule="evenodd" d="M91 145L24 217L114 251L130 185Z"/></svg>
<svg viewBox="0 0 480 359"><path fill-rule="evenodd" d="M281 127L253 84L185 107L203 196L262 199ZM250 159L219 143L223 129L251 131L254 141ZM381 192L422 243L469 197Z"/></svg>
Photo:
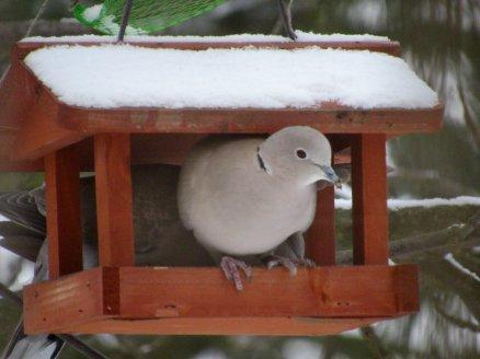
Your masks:
<svg viewBox="0 0 480 359"><path fill-rule="evenodd" d="M345 34L315 34L302 31L295 32L298 36L297 42L376 42L385 43L389 42L386 36L376 36L369 34L363 35L345 35ZM77 35L77 36L33 36L25 37L21 42L23 43L112 43L116 42L116 36L104 35ZM262 34L236 34L226 36L148 36L148 35L135 35L125 36L125 42L135 43L263 43L263 42L292 42L289 37L279 35L262 35Z"/></svg>

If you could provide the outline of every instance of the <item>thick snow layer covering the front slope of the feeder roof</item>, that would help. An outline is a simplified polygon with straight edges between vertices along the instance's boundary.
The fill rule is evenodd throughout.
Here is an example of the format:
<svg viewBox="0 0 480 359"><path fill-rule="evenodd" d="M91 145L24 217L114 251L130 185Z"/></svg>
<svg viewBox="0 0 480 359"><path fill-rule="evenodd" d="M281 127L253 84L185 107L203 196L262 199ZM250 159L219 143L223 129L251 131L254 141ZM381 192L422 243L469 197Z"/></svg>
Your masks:
<svg viewBox="0 0 480 359"><path fill-rule="evenodd" d="M180 50L53 46L25 63L69 105L83 107L427 108L437 95L400 58L367 50Z"/></svg>

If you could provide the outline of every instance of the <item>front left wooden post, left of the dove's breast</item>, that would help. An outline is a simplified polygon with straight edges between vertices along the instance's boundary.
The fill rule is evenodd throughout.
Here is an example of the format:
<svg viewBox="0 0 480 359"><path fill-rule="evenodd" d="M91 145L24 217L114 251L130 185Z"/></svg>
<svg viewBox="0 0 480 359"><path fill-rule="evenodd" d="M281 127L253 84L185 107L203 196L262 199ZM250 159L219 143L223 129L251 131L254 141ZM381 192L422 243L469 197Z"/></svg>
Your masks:
<svg viewBox="0 0 480 359"><path fill-rule="evenodd" d="M95 135L95 193L100 265L135 264L128 134Z"/></svg>

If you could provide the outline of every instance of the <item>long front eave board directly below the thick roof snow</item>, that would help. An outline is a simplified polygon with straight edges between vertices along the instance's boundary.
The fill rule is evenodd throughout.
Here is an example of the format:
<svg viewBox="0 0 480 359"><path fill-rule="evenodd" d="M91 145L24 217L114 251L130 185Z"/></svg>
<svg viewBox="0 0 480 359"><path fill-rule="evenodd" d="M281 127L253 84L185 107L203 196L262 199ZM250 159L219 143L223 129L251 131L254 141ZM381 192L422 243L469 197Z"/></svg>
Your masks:
<svg viewBox="0 0 480 359"><path fill-rule="evenodd" d="M402 135L442 128L443 105L359 111L339 104L312 108L82 108L59 104L62 125L81 132L271 134L310 126L324 134Z"/></svg>

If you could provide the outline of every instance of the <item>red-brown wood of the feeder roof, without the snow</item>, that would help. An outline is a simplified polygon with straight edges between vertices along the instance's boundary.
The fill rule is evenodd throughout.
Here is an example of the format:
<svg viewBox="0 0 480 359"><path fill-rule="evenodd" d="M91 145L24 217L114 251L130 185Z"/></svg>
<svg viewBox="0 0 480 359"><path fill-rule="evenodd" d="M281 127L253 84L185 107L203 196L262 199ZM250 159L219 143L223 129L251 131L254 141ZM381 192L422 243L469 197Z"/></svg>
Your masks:
<svg viewBox="0 0 480 359"><path fill-rule="evenodd" d="M335 103L312 108L82 108L56 99L23 62L30 51L59 43L19 43L12 51L12 67L0 89L0 166L33 167L36 160L59 148L103 132L130 134L268 134L285 126L306 125L330 134L385 132L399 136L431 132L442 127L443 105L434 108L377 108L358 111ZM94 44L82 44L90 46ZM347 49L370 49L399 54L393 42L379 43L151 43L136 46L202 50L209 47L296 48L311 45ZM21 132L19 132L21 130ZM19 134L11 151L12 134ZM12 154L10 157L10 154ZM178 159L175 159L178 161Z"/></svg>

